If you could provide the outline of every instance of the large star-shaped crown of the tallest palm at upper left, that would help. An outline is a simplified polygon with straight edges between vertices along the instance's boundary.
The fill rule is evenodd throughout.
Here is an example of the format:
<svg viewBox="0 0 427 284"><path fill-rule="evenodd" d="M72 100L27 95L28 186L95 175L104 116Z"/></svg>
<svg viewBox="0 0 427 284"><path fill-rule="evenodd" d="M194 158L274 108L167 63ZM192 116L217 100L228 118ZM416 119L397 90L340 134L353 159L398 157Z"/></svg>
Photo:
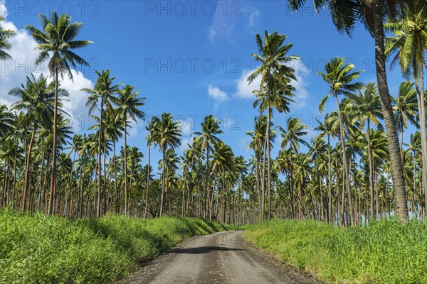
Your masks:
<svg viewBox="0 0 427 284"><path fill-rule="evenodd" d="M41 30L34 26L26 26L26 30L38 43L36 49L41 51L36 58L36 65L49 60L48 70L51 75L57 71L61 77L65 74L73 80L71 67L76 68L76 63L89 66L88 62L72 51L92 43L88 40L75 40L83 23L70 23L70 16L67 14L58 16L56 11L53 11L49 18L43 14L38 17L41 21Z"/></svg>

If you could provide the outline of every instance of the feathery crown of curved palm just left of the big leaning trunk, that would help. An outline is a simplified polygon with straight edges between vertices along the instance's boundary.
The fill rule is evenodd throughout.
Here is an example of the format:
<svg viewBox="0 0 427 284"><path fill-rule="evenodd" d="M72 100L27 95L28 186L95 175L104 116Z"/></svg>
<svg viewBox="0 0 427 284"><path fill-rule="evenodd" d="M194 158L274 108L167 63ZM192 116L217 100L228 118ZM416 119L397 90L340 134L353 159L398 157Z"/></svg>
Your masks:
<svg viewBox="0 0 427 284"><path fill-rule="evenodd" d="M325 95L319 104L319 111L325 110L325 104L332 94L337 97L339 94L351 96L359 89L362 89L362 82L354 82L359 78L362 70L353 71L356 68L351 63L346 63L345 58L333 58L325 65L325 72L317 72L322 79L330 86L330 91Z"/></svg>

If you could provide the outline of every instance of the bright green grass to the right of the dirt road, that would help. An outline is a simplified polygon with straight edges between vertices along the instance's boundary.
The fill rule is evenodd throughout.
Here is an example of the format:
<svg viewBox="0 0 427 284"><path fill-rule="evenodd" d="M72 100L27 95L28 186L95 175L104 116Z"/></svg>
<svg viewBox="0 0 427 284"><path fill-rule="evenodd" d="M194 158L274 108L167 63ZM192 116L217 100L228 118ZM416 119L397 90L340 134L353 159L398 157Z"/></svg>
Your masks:
<svg viewBox="0 0 427 284"><path fill-rule="evenodd" d="M250 226L243 236L327 283L427 283L426 222L343 229L275 219Z"/></svg>

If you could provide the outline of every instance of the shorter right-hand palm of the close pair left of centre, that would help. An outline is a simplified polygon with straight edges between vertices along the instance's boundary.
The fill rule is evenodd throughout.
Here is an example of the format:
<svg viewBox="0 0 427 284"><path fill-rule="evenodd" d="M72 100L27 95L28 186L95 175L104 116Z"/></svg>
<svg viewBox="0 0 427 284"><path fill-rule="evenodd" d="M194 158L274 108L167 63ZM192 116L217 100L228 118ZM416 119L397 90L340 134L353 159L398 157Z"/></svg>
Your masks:
<svg viewBox="0 0 427 284"><path fill-rule="evenodd" d="M131 119L132 121L135 121L135 123L138 123L138 119L145 119L145 114L143 111L139 110L139 107L142 107L145 105L143 102L145 97L138 97L139 91L134 92L135 87L126 85L123 89L120 89L119 96L117 99L115 99L115 102L118 104L119 109L122 111L123 114L123 125L125 128L125 212L127 214L127 132L126 132L126 125L127 125L127 119Z"/></svg>

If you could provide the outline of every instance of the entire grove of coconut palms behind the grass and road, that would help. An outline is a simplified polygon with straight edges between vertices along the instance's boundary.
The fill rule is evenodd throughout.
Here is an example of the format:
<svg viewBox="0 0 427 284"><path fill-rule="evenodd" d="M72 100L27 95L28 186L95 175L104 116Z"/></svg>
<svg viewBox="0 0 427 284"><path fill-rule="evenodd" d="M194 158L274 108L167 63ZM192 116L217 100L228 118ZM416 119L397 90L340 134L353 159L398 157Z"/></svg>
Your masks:
<svg viewBox="0 0 427 284"><path fill-rule="evenodd" d="M304 2L289 4L300 9ZM97 71L93 89L81 90L88 95L93 131L73 133L63 110L68 92L60 82L73 79L71 68L88 65L75 50L91 42L76 39L82 23L68 15L41 15L40 29L26 29L38 43L36 63L47 63L48 77L28 75L9 92L16 102L0 107L1 207L72 217L172 214L239 224L272 217L344 226L391 215L426 218L426 1L315 5L330 9L338 31L351 35L364 23L375 39L377 82L360 82L364 71L345 58L330 59L318 72L325 81L319 111L324 113L329 99L336 109L317 121L318 135L307 141L307 126L299 119L283 126L273 121L275 112L287 113L294 102L295 70L289 63L298 57L290 55L292 43L278 32L256 35L258 53L252 56L258 68L248 83L260 77L253 91L259 115L246 132L250 160L221 140L221 121L212 115L182 155L175 151L181 125L169 113L146 121L147 153L128 146L132 121L145 118L145 98L110 70ZM13 36L0 28L0 60L11 58ZM396 94L389 94L386 60L406 80ZM404 143L410 124L418 130ZM119 141L123 146L117 148ZM158 163L150 157L154 149L162 154Z"/></svg>

